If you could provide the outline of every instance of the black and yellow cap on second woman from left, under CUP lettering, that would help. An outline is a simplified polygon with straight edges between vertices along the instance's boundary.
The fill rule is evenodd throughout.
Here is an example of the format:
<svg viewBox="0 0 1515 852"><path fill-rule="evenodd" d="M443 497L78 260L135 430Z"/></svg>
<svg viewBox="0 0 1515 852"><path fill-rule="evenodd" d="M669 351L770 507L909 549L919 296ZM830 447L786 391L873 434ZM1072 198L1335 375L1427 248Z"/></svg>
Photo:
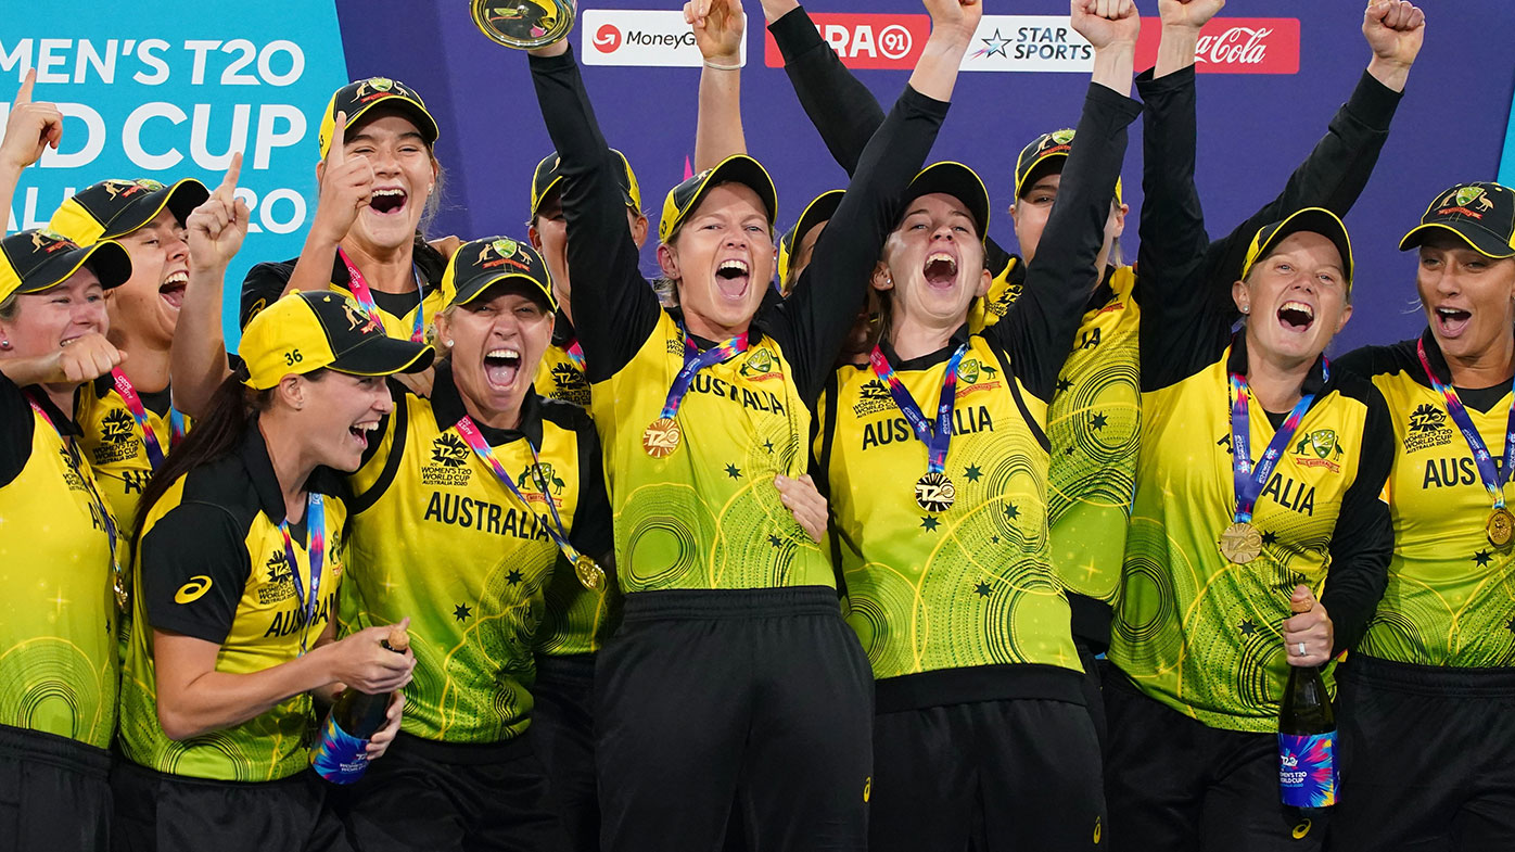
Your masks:
<svg viewBox="0 0 1515 852"><path fill-rule="evenodd" d="M64 202L47 227L80 246L89 246L97 240L126 236L153 221L164 208L183 224L209 197L211 191L194 177L173 185L150 177L102 180Z"/></svg>

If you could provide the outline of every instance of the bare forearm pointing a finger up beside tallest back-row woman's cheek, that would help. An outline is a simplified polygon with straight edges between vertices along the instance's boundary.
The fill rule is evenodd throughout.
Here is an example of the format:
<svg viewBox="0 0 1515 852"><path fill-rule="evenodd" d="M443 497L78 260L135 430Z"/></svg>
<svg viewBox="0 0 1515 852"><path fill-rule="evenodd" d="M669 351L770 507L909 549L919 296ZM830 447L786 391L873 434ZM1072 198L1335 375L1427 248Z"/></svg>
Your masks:
<svg viewBox="0 0 1515 852"><path fill-rule="evenodd" d="M336 247L358 221L358 209L368 203L374 190L374 167L367 156L347 156L347 114L336 114L332 147L321 165L321 194L315 200L315 220L305 235L300 261L280 296L295 290L327 290L332 287L332 264Z"/></svg>

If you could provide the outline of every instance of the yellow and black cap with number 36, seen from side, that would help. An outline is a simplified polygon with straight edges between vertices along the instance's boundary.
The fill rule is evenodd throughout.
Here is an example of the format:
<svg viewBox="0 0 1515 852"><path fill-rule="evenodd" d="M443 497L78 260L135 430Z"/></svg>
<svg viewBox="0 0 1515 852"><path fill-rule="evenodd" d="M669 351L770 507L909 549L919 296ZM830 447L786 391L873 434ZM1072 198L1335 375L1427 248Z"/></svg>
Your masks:
<svg viewBox="0 0 1515 852"><path fill-rule="evenodd" d="M351 376L420 373L435 350L386 335L350 296L314 290L291 293L253 317L238 355L248 373L242 384L268 390L291 373L323 367Z"/></svg>

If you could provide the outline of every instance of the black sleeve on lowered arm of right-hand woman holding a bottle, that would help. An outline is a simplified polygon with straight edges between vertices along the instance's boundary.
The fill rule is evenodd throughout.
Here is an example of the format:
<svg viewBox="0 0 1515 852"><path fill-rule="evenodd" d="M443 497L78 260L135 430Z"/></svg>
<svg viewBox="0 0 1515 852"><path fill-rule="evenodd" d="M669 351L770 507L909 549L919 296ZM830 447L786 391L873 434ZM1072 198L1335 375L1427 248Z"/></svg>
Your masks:
<svg viewBox="0 0 1515 852"><path fill-rule="evenodd" d="M1394 555L1394 525L1382 499L1394 464L1394 426L1379 390L1367 379L1360 384L1368 402L1362 456L1357 478L1342 496L1330 541L1330 572L1321 593L1321 606L1336 632L1333 655L1356 646L1368 631L1389 584L1389 556Z"/></svg>

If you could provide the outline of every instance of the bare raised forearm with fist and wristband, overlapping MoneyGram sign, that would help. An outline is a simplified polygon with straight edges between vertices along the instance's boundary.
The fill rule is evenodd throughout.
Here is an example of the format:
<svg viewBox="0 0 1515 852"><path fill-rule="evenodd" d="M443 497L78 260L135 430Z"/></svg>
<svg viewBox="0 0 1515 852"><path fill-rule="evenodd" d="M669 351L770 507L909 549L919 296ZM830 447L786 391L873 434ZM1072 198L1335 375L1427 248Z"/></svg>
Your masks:
<svg viewBox="0 0 1515 852"><path fill-rule="evenodd" d="M700 68L700 112L694 129L694 170L715 168L747 153L742 130L742 38L747 15L741 0L689 0L683 20L704 58Z"/></svg>

